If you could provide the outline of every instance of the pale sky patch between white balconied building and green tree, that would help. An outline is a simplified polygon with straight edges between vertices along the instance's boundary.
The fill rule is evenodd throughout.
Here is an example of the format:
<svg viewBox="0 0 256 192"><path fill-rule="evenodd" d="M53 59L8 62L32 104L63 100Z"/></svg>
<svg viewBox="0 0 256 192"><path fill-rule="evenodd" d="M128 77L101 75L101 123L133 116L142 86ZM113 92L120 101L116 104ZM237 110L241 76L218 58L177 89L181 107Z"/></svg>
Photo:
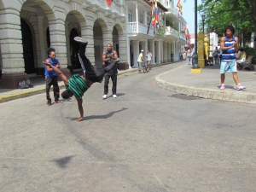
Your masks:
<svg viewBox="0 0 256 192"><path fill-rule="evenodd" d="M175 6L177 5L177 1L175 0ZM183 0L182 0L183 1ZM197 0L197 4L201 4L201 0ZM195 0L186 0L186 3L183 3L183 18L187 21L189 25L189 33L195 33ZM201 20L201 15L198 12L197 14L198 23ZM198 26L199 28L199 26ZM199 30L199 29L198 29Z"/></svg>

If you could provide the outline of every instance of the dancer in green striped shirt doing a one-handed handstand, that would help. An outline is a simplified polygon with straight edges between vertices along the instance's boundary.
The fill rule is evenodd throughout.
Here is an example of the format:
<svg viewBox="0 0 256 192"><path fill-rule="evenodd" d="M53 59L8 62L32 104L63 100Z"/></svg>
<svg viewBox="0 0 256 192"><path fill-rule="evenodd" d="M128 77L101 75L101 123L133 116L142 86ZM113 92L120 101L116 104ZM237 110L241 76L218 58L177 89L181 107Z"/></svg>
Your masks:
<svg viewBox="0 0 256 192"><path fill-rule="evenodd" d="M80 37L75 37L74 40L79 43L79 61L81 63L81 67L83 69L83 74L74 74L71 76L70 79L67 79L67 77L61 72L61 70L58 67L55 67L51 65L50 62L43 61L44 65L52 67L52 69L57 73L64 84L66 85L65 91L61 93L61 96L63 99L68 99L72 96L75 96L75 98L78 101L79 106L79 113L80 117L77 119L77 121L81 121L84 119L84 108L83 108L83 99L84 92L90 88L90 86L96 82L102 83L102 80L104 78L105 73L108 73L110 70L113 69L113 67L116 65L116 62L119 61L112 61L108 67L104 67L102 69L96 69L94 68L90 60L85 55L85 49L88 44L87 40Z"/></svg>

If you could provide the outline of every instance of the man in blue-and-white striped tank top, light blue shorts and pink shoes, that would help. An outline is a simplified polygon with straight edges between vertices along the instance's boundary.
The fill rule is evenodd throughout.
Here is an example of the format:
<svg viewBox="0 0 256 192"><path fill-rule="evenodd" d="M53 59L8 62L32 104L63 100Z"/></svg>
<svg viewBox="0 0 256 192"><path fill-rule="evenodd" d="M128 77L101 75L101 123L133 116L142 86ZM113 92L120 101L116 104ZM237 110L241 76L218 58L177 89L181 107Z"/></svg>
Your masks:
<svg viewBox="0 0 256 192"><path fill-rule="evenodd" d="M234 37L235 28L234 26L227 26L224 29L225 37L220 40L220 49L222 50L222 60L220 63L220 90L225 89L225 73L232 72L233 79L236 83L236 90L246 89L246 86L239 84L239 79L236 69L236 51L239 48L238 38Z"/></svg>

